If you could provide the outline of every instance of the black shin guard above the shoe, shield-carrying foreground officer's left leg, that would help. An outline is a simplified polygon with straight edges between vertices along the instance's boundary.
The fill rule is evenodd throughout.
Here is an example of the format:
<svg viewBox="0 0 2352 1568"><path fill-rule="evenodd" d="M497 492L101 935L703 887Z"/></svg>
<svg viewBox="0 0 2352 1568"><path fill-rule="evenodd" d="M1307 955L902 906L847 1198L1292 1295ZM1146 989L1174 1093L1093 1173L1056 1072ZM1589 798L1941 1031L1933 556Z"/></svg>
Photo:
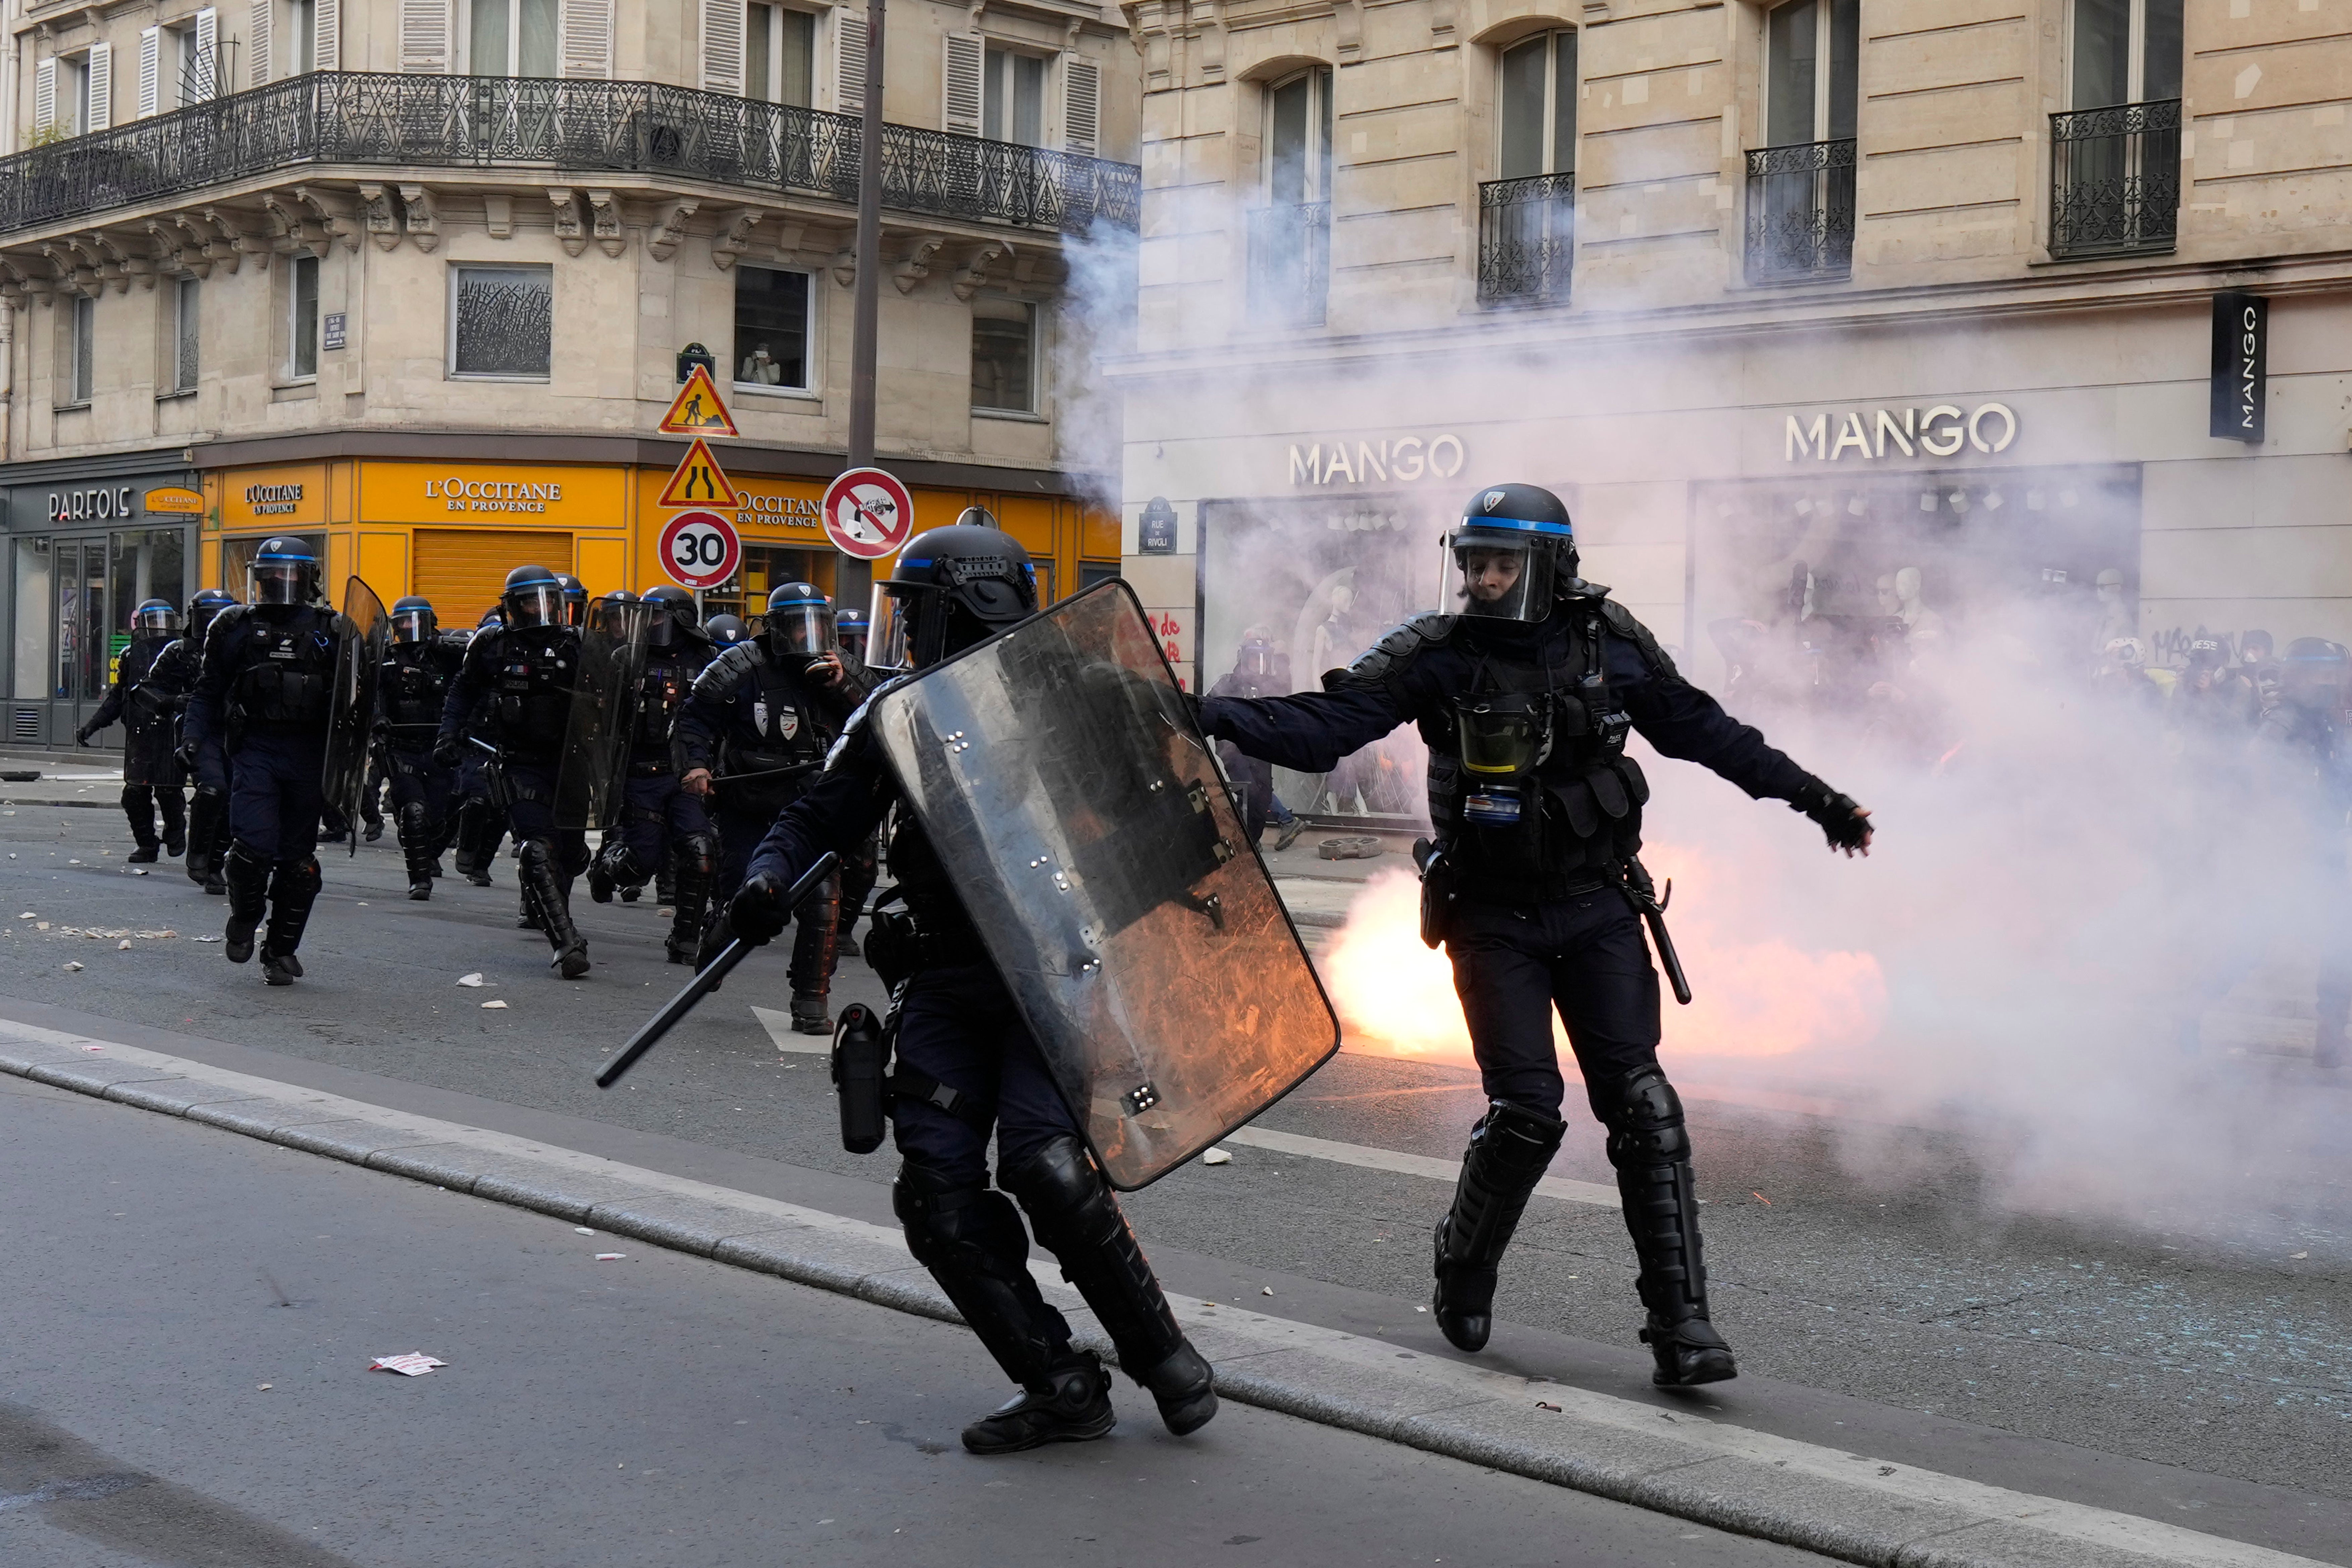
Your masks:
<svg viewBox="0 0 2352 1568"><path fill-rule="evenodd" d="M1070 1354L1070 1324L1037 1291L1021 1215L1004 1194L957 1187L908 1159L891 1182L891 1208L915 1262L931 1269L1004 1375L1049 1392L1054 1363Z"/></svg>

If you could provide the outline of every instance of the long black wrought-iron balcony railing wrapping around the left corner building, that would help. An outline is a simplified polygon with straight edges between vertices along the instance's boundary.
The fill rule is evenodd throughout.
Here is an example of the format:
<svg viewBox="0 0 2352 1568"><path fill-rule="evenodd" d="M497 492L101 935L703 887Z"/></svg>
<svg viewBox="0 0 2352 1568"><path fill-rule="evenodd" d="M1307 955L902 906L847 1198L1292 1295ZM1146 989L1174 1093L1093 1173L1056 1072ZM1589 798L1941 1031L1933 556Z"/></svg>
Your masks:
<svg viewBox="0 0 2352 1568"><path fill-rule="evenodd" d="M856 202L856 115L659 82L315 73L0 158L0 235L303 165L668 174ZM882 127L882 205L1136 228L1136 165Z"/></svg>

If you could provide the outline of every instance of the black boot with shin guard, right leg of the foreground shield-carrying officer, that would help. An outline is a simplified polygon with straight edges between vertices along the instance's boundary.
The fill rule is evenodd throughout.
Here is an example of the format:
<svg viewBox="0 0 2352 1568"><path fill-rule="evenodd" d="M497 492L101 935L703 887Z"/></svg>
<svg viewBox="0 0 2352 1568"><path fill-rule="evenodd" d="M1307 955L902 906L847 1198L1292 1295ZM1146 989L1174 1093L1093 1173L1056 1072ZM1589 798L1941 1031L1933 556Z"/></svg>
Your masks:
<svg viewBox="0 0 2352 1568"><path fill-rule="evenodd" d="M1094 1307L1120 1352L1120 1368L1150 1389L1167 1429L1185 1436L1207 1427L1216 1415L1216 1378L1176 1326L1169 1298L1087 1145L1068 1133L1051 1138L1000 1164L997 1180L1021 1199L1037 1241Z"/></svg>

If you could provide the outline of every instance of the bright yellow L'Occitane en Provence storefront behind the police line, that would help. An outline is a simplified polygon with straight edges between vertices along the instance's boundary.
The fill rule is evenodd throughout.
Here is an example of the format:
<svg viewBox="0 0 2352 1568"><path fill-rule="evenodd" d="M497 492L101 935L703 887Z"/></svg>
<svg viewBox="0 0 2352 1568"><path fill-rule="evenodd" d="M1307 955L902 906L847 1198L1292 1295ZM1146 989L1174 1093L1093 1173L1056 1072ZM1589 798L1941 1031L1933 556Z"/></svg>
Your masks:
<svg viewBox="0 0 2352 1568"><path fill-rule="evenodd" d="M724 454L722 454L724 461ZM597 463L428 463L334 458L205 475L202 583L245 595L245 564L263 538L296 534L320 548L329 595L360 576L390 604L433 599L445 625L487 611L513 567L572 571L588 592L666 583L659 538L673 510L654 505L666 468ZM823 480L734 475L743 567L703 595L706 614L757 614L774 583L814 581L828 595L866 571L826 541ZM1120 569L1120 522L1068 496L1007 496L978 489L924 489L915 531L946 527L967 505L985 505L1037 559L1044 599L1075 592ZM842 571L847 567L847 571Z"/></svg>

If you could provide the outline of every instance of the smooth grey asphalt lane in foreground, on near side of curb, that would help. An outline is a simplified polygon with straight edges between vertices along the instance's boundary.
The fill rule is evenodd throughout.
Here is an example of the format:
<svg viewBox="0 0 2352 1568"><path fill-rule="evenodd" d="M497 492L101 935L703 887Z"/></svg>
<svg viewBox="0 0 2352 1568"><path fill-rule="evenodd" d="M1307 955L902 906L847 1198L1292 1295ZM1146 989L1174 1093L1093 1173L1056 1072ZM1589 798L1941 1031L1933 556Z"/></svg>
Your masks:
<svg viewBox="0 0 2352 1568"><path fill-rule="evenodd" d="M962 1328L19 1079L0 1124L14 1568L1820 1561L1124 1382L974 1460Z"/></svg>

